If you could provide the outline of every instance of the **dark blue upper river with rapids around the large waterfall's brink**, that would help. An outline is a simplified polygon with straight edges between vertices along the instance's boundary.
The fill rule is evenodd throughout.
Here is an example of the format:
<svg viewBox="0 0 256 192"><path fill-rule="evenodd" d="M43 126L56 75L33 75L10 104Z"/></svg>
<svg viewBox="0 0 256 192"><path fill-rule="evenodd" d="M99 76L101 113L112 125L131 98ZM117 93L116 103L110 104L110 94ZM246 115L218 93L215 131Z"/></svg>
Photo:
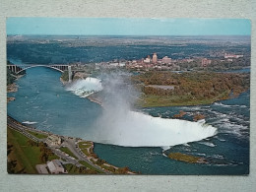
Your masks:
<svg viewBox="0 0 256 192"><path fill-rule="evenodd" d="M249 172L249 92L211 105L146 108L153 116L169 118L179 110L192 120L195 111L206 116L207 123L219 133L200 142L161 148L124 148L97 144L98 157L118 166L146 174L247 174ZM162 154L179 152L206 159L208 164L169 160Z"/></svg>

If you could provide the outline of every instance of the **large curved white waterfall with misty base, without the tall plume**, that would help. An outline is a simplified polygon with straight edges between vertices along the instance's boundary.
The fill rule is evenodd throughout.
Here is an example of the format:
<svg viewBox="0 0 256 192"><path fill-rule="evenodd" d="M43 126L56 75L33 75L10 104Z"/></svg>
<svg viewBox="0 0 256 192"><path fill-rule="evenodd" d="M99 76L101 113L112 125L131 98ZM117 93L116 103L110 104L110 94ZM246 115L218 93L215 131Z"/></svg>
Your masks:
<svg viewBox="0 0 256 192"><path fill-rule="evenodd" d="M135 111L126 111L125 115L119 113L115 117L107 112L103 115L97 122L96 141L118 146L175 146L214 136L217 131L204 122L163 119Z"/></svg>

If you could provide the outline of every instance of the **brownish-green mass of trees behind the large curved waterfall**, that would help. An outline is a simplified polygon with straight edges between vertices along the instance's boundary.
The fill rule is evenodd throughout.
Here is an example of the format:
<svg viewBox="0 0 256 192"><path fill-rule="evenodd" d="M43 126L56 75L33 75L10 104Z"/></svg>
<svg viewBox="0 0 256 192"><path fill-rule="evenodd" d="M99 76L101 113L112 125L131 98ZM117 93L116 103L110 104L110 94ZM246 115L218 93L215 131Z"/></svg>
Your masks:
<svg viewBox="0 0 256 192"><path fill-rule="evenodd" d="M135 77L144 83L142 92L146 95L181 96L189 99L227 98L229 94L238 96L249 89L249 74L189 72L176 74L171 72L149 72ZM148 85L173 86L163 90Z"/></svg>

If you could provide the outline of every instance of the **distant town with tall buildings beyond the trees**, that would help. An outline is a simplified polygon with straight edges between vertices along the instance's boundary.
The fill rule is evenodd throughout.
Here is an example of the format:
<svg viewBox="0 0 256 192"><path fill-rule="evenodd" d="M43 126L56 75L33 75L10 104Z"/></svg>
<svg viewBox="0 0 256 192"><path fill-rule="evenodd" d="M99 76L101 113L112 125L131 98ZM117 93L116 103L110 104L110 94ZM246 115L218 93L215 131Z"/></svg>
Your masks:
<svg viewBox="0 0 256 192"><path fill-rule="evenodd" d="M239 69L247 66L247 61L242 54L216 53L219 58L185 58L172 59L168 56L159 58L155 52L146 58L139 60L112 60L108 62L95 63L95 70L125 68L130 71L191 71L191 70L222 70ZM86 66L82 62L73 63L77 70L83 70ZM232 67L230 67L232 66Z"/></svg>

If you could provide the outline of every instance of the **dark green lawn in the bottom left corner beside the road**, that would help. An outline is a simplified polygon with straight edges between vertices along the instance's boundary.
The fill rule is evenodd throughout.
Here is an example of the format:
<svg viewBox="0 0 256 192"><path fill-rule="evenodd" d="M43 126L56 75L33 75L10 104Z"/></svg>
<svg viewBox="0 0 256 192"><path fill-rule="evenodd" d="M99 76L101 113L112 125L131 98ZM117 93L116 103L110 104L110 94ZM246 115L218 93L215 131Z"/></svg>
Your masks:
<svg viewBox="0 0 256 192"><path fill-rule="evenodd" d="M8 159L17 160L17 164L23 167L27 173L37 173L35 165L43 163L39 160L40 149L36 146L29 146L28 141L30 140L23 134L8 128L7 129L8 144L13 145L12 152ZM58 157L51 156L50 160L58 159Z"/></svg>

